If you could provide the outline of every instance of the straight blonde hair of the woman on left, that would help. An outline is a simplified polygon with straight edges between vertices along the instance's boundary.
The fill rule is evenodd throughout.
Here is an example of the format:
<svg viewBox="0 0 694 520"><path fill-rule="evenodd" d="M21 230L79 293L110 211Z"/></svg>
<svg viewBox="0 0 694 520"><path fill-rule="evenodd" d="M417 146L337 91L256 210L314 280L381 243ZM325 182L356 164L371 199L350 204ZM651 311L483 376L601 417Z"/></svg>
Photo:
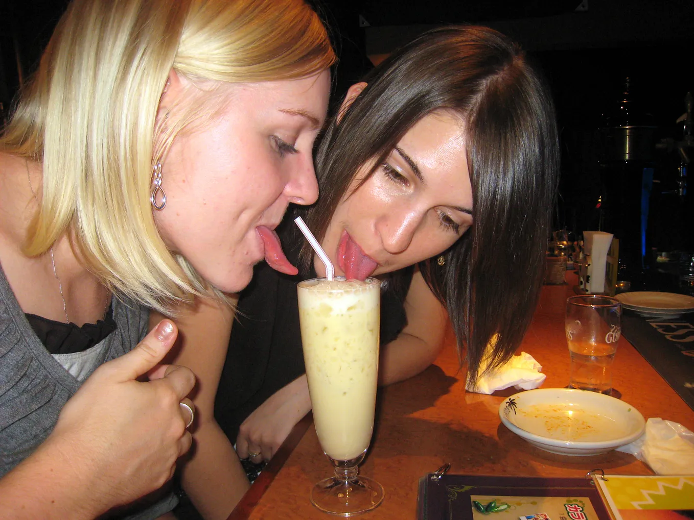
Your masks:
<svg viewBox="0 0 694 520"><path fill-rule="evenodd" d="M0 149L43 166L24 252L43 254L67 232L105 286L162 312L214 293L167 249L152 215L153 165L202 105L220 101L201 89L158 118L169 72L255 83L312 76L334 61L303 0L72 1L0 138Z"/></svg>

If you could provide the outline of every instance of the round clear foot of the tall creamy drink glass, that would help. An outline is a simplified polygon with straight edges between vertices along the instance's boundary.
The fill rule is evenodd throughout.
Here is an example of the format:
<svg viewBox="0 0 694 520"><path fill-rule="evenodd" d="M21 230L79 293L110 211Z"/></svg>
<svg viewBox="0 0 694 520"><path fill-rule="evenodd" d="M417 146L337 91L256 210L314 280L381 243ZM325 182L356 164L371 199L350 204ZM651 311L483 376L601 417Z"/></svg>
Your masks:
<svg viewBox="0 0 694 520"><path fill-rule="evenodd" d="M361 475L350 480L326 478L311 491L311 503L316 508L339 517L354 517L371 511L382 501L382 485Z"/></svg>

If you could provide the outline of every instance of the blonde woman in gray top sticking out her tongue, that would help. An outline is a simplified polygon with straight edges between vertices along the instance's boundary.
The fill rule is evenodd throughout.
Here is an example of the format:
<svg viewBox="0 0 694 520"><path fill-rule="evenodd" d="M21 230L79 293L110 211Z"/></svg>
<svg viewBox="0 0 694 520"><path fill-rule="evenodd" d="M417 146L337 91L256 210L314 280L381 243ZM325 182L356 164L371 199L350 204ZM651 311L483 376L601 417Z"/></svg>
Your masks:
<svg viewBox="0 0 694 520"><path fill-rule="evenodd" d="M145 309L293 270L334 59L303 0L69 4L0 137L3 517L172 517L194 375Z"/></svg>

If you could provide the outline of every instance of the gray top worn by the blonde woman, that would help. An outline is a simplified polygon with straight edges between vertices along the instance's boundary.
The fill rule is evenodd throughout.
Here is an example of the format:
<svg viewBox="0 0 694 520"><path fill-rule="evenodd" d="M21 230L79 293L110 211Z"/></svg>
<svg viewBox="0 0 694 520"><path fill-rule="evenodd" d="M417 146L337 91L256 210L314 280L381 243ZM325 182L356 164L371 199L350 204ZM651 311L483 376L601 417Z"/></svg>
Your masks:
<svg viewBox="0 0 694 520"><path fill-rule="evenodd" d="M149 311L113 299L117 327L101 343L81 381L46 350L26 320L0 265L0 477L28 457L53 431L67 400L101 363L133 349L147 333ZM174 508L173 493L146 510L122 518L155 519Z"/></svg>

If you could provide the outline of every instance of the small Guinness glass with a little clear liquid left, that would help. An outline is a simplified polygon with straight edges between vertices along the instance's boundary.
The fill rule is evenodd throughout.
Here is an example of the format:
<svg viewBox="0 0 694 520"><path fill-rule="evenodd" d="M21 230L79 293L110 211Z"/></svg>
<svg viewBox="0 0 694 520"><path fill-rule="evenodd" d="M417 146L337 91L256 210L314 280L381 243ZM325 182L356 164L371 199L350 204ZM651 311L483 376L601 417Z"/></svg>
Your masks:
<svg viewBox="0 0 694 520"><path fill-rule="evenodd" d="M611 394L612 362L621 335L622 304L602 295L566 300L566 341L571 356L569 386Z"/></svg>

